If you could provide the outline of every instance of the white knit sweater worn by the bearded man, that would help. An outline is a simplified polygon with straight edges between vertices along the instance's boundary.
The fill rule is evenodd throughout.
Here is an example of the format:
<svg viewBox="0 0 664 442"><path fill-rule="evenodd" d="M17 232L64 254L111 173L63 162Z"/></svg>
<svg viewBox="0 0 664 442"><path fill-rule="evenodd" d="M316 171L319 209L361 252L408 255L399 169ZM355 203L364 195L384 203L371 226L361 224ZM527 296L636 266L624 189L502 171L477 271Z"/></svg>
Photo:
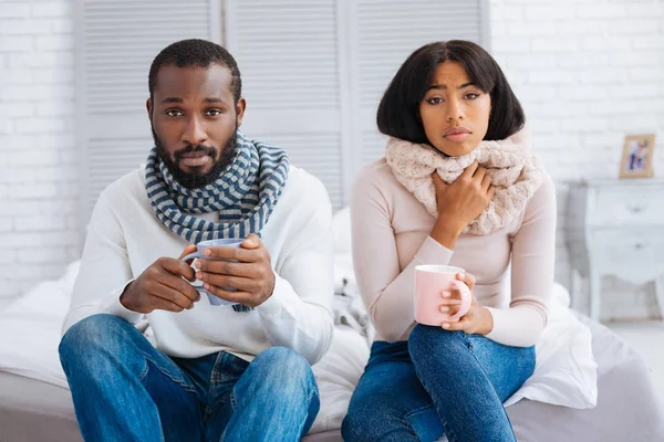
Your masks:
<svg viewBox="0 0 664 442"><path fill-rule="evenodd" d="M120 303L125 285L158 257L177 257L187 245L155 217L144 177L143 169L136 170L102 192L63 332L97 313L138 323L144 315ZM205 218L219 221L217 213ZM212 306L206 296L190 311L155 311L147 316L158 349L184 358L227 350L251 360L266 348L284 346L311 364L325 354L333 333L334 283L331 204L322 183L291 167L261 235L277 277L272 296L251 312Z"/></svg>

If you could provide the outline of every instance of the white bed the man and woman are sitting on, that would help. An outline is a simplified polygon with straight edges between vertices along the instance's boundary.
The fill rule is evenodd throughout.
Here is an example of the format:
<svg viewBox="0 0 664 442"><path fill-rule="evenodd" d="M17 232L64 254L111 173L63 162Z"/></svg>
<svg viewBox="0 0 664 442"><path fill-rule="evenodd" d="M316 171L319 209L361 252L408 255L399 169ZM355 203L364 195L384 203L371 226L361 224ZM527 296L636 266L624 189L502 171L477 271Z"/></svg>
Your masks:
<svg viewBox="0 0 664 442"><path fill-rule="evenodd" d="M347 276L343 273L349 272L350 264L346 225L347 222L342 222L343 228L335 232L340 236L336 238L339 284ZM58 358L60 326L69 307L76 272L77 264L74 263L60 280L39 284L21 298L0 306L0 442L81 440ZM352 282L346 288L353 291ZM340 325L332 347L314 366L321 411L310 435L304 438L307 442L341 440L339 428L369 358L367 340L371 339L357 332L363 330L371 337L371 329L363 329L366 318L357 307L361 303L352 298L338 301L335 319ZM571 317L567 307L558 312ZM608 328L577 316L590 327L590 333L574 318L572 320L583 330L571 330L562 324L558 329L551 324L548 328L550 340L568 343L569 352L575 354L569 359L572 365L553 367L533 376L528 389L523 389L525 396L537 398L543 391L543 396L556 403L551 400L554 396L548 390L552 383L560 382L562 373L579 386L592 388L577 389L582 392L578 397L574 397L577 390L559 389L569 393L557 400L577 403L578 408L585 408L596 400L596 407L573 409L522 399L508 407L517 439L522 442L664 441L664 410L643 359ZM581 344L585 339L587 350L582 345L574 347L573 339ZM548 358L542 354L544 368ZM538 355L538 365L540 361ZM589 370L590 365L592 370ZM588 379L589 372L592 379ZM570 379L567 379L568 383Z"/></svg>

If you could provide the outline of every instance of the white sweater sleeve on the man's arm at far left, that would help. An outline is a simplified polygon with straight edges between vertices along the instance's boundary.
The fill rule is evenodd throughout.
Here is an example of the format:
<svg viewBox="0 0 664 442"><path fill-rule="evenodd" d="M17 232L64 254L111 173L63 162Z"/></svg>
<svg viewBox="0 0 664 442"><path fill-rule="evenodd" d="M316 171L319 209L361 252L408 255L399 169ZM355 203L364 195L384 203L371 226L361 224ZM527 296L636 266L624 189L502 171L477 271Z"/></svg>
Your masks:
<svg viewBox="0 0 664 442"><path fill-rule="evenodd" d="M143 314L128 311L120 296L133 280L122 228L105 192L94 208L62 333L89 316L107 313L132 324Z"/></svg>

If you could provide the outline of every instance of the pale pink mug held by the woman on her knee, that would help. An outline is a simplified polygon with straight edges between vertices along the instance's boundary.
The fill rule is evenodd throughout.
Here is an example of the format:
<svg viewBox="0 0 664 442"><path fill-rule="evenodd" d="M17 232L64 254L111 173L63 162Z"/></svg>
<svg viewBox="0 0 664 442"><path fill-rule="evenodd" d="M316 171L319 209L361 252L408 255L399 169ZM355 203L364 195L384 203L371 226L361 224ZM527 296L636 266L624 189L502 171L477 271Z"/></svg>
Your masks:
<svg viewBox="0 0 664 442"><path fill-rule="evenodd" d="M425 325L456 323L470 309L473 294L470 288L456 278L464 269L452 265L418 265L415 267L415 320ZM461 292L461 305L457 314L450 316L440 312L443 292L457 286Z"/></svg>

